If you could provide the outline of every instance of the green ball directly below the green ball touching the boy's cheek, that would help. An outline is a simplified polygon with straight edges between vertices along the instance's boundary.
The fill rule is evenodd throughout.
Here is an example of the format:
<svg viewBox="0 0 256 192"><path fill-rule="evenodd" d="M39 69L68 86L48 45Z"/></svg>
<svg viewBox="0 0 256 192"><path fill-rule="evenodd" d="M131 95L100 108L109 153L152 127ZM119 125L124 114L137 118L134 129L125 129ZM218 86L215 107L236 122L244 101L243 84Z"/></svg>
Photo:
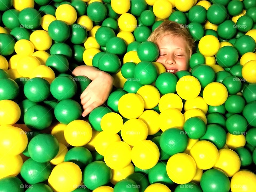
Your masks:
<svg viewBox="0 0 256 192"><path fill-rule="evenodd" d="M150 85L157 79L157 69L153 63L141 61L135 66L134 78L142 85Z"/></svg>

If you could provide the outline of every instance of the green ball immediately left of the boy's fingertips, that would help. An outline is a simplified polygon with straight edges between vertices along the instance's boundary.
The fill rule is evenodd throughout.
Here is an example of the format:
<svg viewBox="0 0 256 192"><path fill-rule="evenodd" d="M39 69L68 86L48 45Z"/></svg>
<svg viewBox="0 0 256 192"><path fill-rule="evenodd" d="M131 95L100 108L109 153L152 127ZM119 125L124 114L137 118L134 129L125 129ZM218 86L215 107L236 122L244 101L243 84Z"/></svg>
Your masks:
<svg viewBox="0 0 256 192"><path fill-rule="evenodd" d="M68 124L81 117L82 109L78 102L64 99L55 105L54 115L60 123Z"/></svg>

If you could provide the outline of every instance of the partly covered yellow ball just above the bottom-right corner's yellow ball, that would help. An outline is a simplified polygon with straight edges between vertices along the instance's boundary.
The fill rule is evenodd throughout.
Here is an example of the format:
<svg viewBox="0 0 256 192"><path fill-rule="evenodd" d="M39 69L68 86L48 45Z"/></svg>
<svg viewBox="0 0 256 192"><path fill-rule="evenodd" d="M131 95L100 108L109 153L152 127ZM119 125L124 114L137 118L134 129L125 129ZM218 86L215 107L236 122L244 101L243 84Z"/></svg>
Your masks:
<svg viewBox="0 0 256 192"><path fill-rule="evenodd" d="M224 171L227 176L233 177L240 169L241 161L237 153L231 149L219 150L219 159L214 168Z"/></svg>

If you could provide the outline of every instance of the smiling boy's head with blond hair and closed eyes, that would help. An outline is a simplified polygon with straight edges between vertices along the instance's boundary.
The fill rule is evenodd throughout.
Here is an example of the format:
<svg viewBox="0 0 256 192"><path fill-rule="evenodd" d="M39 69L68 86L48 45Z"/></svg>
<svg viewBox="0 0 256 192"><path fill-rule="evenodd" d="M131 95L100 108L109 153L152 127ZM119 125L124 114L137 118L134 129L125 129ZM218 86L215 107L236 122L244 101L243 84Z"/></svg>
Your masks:
<svg viewBox="0 0 256 192"><path fill-rule="evenodd" d="M157 62L162 63L167 72L176 73L189 69L189 59L195 41L183 25L174 21L164 21L151 33L147 41L157 44Z"/></svg>

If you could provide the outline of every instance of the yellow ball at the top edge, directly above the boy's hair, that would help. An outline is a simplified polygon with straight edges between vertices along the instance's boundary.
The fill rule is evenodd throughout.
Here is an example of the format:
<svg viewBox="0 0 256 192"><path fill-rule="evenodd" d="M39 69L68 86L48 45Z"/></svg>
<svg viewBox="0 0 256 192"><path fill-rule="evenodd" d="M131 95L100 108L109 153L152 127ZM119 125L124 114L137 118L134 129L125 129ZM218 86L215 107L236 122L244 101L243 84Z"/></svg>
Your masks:
<svg viewBox="0 0 256 192"><path fill-rule="evenodd" d="M177 1L177 0L176 0ZM159 19L166 19L170 16L173 6L168 0L157 0L153 5L153 12Z"/></svg>

